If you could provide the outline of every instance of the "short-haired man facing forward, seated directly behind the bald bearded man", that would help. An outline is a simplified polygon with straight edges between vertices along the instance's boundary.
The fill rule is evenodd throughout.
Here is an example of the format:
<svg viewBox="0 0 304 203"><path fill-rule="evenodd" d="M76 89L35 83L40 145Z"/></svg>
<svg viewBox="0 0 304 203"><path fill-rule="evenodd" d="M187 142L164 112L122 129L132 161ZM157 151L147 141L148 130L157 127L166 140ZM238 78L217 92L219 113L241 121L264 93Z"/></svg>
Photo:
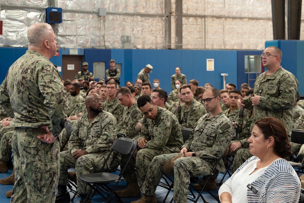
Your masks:
<svg viewBox="0 0 304 203"><path fill-rule="evenodd" d="M113 116L115 116L118 122L121 119L121 115L122 115L122 111L124 110L124 107L121 104L119 104L119 101L116 97L116 92L117 92L117 83L114 81L107 82L108 98L105 102L103 102L103 110L113 114Z"/></svg>

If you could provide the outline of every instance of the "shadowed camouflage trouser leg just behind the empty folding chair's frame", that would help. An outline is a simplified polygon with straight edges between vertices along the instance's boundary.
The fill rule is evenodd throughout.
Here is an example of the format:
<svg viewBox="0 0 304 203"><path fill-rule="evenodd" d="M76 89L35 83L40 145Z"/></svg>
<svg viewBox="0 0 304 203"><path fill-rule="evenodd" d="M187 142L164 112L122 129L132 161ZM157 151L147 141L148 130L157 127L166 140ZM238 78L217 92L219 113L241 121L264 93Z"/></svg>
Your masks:
<svg viewBox="0 0 304 203"><path fill-rule="evenodd" d="M121 170L124 168L128 161L128 157L121 154L121 162L120 162L120 168ZM130 159L130 162L128 163L126 170L124 171L124 179L126 180L127 183L136 183L137 182L137 177L135 173L135 159L133 156Z"/></svg>

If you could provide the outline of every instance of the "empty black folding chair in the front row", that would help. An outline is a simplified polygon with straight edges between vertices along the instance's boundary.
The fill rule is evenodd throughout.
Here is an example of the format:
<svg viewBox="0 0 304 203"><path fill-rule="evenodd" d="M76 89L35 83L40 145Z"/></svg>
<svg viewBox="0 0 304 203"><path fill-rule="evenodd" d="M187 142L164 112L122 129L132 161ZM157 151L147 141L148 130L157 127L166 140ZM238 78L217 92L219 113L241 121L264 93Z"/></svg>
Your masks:
<svg viewBox="0 0 304 203"><path fill-rule="evenodd" d="M129 156L128 162L127 162L126 166L121 170L120 175L116 175L116 174L109 173L109 172L101 172L101 173L85 174L85 175L82 175L79 177L80 180L87 183L91 187L91 190L89 191L88 195L86 196L86 199L84 202L86 202L89 198L92 199L96 192L98 194L100 194L104 199L106 199L107 202L109 202L111 198L113 198L117 202L122 202L119 197L114 197L113 194L114 194L115 188L117 187L118 183L121 182L122 180L124 180L122 175L129 163L133 153L135 152L136 146L137 146L137 142L135 140L132 140L129 138L121 137L114 141L114 143L111 147L109 156L107 156L107 159L105 160L100 171L105 170L104 167L106 166L107 161L110 159L111 153L113 151L115 151L116 153L114 155L113 160L110 163L109 168L111 168L111 165L114 163L114 160L116 159L118 153ZM114 185L113 188L110 188L106 183L116 183L116 184ZM102 194L100 191L98 191L98 189L101 189L104 193L106 193L107 197L104 194ZM94 190L94 192L92 193L93 190ZM91 193L92 193L92 195L90 197Z"/></svg>

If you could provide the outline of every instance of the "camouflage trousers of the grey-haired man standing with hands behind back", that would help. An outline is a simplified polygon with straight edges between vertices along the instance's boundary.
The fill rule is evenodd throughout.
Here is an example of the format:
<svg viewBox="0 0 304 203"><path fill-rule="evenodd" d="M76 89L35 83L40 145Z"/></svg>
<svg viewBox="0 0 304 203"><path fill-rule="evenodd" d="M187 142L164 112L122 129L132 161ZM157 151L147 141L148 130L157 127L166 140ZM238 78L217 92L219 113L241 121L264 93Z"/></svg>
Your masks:
<svg viewBox="0 0 304 203"><path fill-rule="evenodd" d="M11 202L55 202L59 178L59 140L39 141L30 129L15 128L12 149L15 184Z"/></svg>

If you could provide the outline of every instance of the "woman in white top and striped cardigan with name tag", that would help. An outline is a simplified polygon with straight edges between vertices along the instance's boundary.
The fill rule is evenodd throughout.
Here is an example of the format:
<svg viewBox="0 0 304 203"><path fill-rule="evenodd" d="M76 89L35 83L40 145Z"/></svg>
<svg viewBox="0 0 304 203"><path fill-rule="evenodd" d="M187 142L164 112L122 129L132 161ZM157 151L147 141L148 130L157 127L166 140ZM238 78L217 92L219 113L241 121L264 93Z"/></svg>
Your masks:
<svg viewBox="0 0 304 203"><path fill-rule="evenodd" d="M257 121L248 142L253 157L220 187L221 202L299 202L299 177L284 159L292 152L283 123L272 117Z"/></svg>

